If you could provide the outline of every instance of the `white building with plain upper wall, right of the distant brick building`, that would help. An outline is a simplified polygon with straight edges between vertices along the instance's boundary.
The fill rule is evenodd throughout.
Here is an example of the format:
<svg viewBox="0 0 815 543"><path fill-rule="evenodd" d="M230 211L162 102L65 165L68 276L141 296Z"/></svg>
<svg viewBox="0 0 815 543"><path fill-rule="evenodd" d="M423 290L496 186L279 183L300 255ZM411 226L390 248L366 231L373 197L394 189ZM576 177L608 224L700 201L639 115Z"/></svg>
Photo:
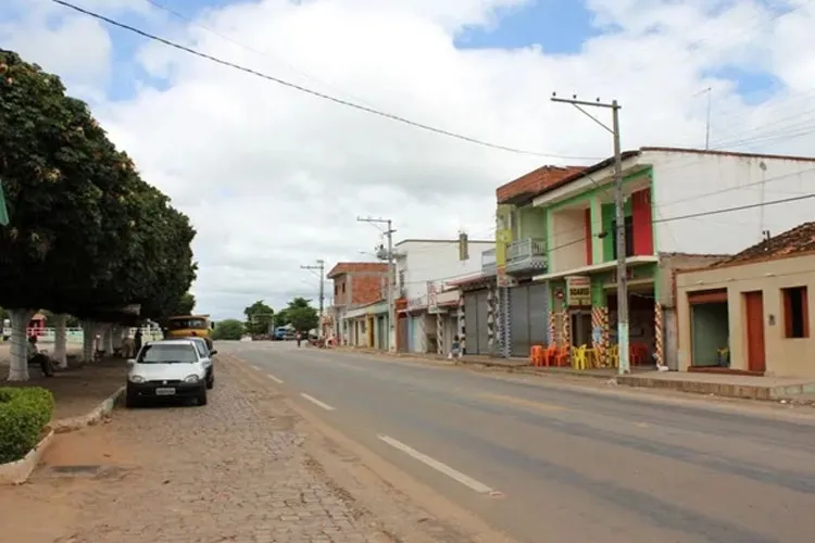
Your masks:
<svg viewBox="0 0 815 543"><path fill-rule="evenodd" d="M493 240L468 240L462 260L460 241L409 239L393 248L397 263L397 349L446 353L459 329L459 289L448 281L478 274L481 253Z"/></svg>

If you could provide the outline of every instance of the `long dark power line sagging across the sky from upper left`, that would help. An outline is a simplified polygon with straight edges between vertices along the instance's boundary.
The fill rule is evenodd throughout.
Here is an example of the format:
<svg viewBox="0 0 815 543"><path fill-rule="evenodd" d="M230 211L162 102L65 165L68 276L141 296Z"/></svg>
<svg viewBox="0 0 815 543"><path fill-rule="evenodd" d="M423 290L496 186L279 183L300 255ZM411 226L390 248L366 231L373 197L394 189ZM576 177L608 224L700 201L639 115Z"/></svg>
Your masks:
<svg viewBox="0 0 815 543"><path fill-rule="evenodd" d="M141 30L139 28L136 28L135 26L130 26L130 25L127 25L125 23L120 23L118 21L115 21L113 18L106 17L104 15L100 15L99 13L95 13L95 12L86 10L84 8L79 8L78 5L74 5L74 4L70 3L70 2L65 2L64 0L51 0L51 1L54 2L54 3L58 3L60 5L62 5L64 8L68 8L71 10L76 11L76 12L83 13L83 14L88 15L90 17L93 17L96 20L99 20L99 21L102 21L104 23L108 23L109 25L122 28L124 30L127 30L127 31L130 31L130 33L134 33L134 34L138 34L139 36L141 36L143 38L147 38L147 39L150 39L150 40L153 40L153 41L158 41L158 42L163 43L163 45L165 45L167 47L171 47L173 49L177 49L179 51L184 51L184 52L192 54L195 56L199 56L201 59L205 59L205 60L208 60L210 62L214 62L216 64L221 64L222 66L227 66L227 67L230 67L230 68L234 68L234 70L238 70L240 72L244 72L247 74L251 74L251 75L261 77L263 79L267 79L269 81L276 83L276 84L281 85L284 87L288 87L290 89L298 90L300 92L304 92L306 94L311 94L311 96L316 97L316 98L322 98L323 100L328 100L328 101L334 102L334 103L339 104L339 105L344 105L347 108L351 108L351 109L359 110L359 111L362 111L362 112L365 112L365 113L369 113L372 115L377 115L379 117L388 118L390 121L396 121L398 123L402 123L402 124L412 126L414 128L419 128L422 130L426 130L426 131L429 131L429 132L438 134L438 135L441 135L441 136L447 136L449 138L454 138L454 139L459 139L459 140L462 140L462 141L467 141L469 143L475 143L477 146L487 147L487 148L490 148L490 149L497 149L499 151L506 151L506 152L515 153L515 154L524 154L524 155L529 155L529 156L542 156L542 157L548 157L548 159L574 160L574 161L595 161L595 160L599 160L599 157L597 157L597 156L569 156L569 155L562 155L562 154L539 153L537 151L529 151L529 150L517 149L517 148L507 147L507 146L501 146L501 144L498 144L498 143L491 143L489 141L485 141L485 140L480 140L480 139L473 138L473 137L469 137L469 136L465 136L465 135L462 135L462 134L453 132L453 131L450 131L450 130L446 130L443 128L436 128L434 126L430 126L430 125L427 125L427 124L424 124L424 123L419 123L419 122L416 122L416 121L411 121L409 118L402 117L402 116L397 115L394 113L388 113L388 112L385 112L385 111L381 111L381 110L377 110L375 108L369 108L367 105L363 105L363 104L360 104L360 103L356 103L356 102L351 102L349 100L343 100L341 98L337 98L337 97L334 97L331 94L326 94L324 92L319 92L317 90L313 90L313 89L310 89L308 87L303 87L302 85L298 85L298 84L294 84L294 83L291 83L291 81L287 81L287 80L281 79L279 77L275 77L275 76L272 76L272 75L264 74L262 72L258 72L256 70L252 70L250 67L241 66L240 64L236 64L236 63L233 63L233 62L229 62L229 61L225 61L223 59L218 59L217 56L213 56L211 54L198 51L198 50L192 49L192 48L187 47L187 46L183 46L180 43L177 43L175 41L168 40L166 38L162 38L162 37L156 36L154 34L150 34L150 33L148 33L146 30Z"/></svg>

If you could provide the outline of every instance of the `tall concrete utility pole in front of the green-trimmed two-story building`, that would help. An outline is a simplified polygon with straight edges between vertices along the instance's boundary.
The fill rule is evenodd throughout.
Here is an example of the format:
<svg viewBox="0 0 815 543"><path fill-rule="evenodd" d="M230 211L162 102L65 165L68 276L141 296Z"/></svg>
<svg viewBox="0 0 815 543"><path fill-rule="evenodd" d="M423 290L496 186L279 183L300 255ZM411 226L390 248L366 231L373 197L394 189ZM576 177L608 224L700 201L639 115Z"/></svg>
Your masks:
<svg viewBox="0 0 815 543"><path fill-rule="evenodd" d="M626 274L626 229L625 229L625 211L623 207L623 152L619 144L619 110L622 106L616 100L611 102L601 102L598 98L594 102L578 100L576 96L568 98L557 98L552 93L552 101L572 104L580 113L588 116L594 123L610 131L614 137L614 206L616 215L616 228L614 229L614 239L617 245L617 349L619 350L619 372L629 374L631 365L628 357L629 329L628 329L628 278ZM612 111L611 128L594 115L584 110L586 108L605 108Z"/></svg>

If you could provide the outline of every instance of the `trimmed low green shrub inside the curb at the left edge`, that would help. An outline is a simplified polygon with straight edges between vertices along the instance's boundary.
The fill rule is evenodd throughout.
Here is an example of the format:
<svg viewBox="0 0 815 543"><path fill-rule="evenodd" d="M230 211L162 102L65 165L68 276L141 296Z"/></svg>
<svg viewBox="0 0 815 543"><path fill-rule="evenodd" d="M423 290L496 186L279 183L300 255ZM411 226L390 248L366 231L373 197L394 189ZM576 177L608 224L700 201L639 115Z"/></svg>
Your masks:
<svg viewBox="0 0 815 543"><path fill-rule="evenodd" d="M0 388L0 464L18 460L51 420L53 394L39 387Z"/></svg>

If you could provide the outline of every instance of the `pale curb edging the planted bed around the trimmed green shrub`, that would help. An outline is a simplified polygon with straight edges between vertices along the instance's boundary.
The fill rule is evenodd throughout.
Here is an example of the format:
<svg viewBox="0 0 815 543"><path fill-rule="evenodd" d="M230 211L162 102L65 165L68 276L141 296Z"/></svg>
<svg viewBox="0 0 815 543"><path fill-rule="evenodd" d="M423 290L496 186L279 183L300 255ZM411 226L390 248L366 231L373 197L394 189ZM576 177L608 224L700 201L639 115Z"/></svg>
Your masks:
<svg viewBox="0 0 815 543"><path fill-rule="evenodd" d="M39 465L42 454L51 445L54 435L58 433L72 432L98 424L111 414L113 406L116 405L116 401L124 391L125 387L120 387L116 392L108 396L102 403L85 415L63 418L47 425L46 428L49 429L48 433L34 446L34 449L28 451L28 454L18 460L10 462L9 464L0 464L0 487L23 484L28 481L32 472L34 472L35 468Z"/></svg>

